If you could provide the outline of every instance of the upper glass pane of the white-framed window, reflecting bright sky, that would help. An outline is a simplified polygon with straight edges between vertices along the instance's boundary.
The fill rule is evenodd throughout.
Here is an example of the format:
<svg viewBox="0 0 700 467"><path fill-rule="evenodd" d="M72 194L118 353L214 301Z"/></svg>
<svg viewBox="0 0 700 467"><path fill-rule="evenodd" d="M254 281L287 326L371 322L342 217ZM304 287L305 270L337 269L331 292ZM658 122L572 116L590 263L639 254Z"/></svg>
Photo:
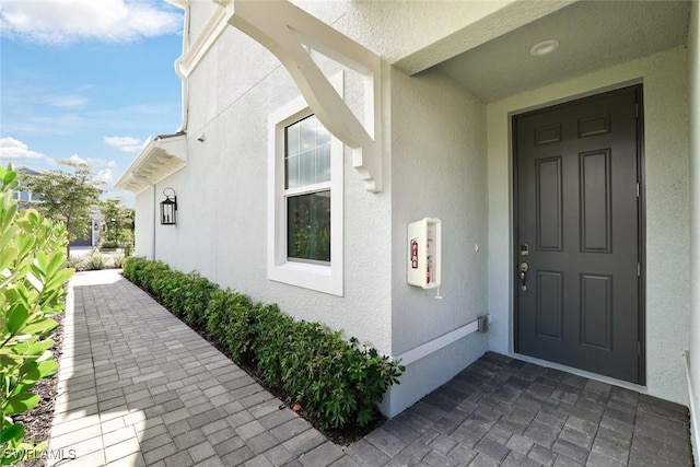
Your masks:
<svg viewBox="0 0 700 467"><path fill-rule="evenodd" d="M330 180L330 133L312 115L284 129L284 188Z"/></svg>

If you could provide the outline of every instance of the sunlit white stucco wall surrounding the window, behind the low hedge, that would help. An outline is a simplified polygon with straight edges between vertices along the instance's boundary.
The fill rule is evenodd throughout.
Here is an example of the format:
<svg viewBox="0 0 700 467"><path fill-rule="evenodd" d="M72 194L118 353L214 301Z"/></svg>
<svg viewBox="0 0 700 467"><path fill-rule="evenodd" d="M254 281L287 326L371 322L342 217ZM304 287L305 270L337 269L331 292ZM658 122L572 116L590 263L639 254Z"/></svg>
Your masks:
<svg viewBox="0 0 700 467"><path fill-rule="evenodd" d="M329 63L324 68L328 74L339 70ZM345 194L339 194L346 223L343 297L268 280L268 116L298 97L299 90L269 51L233 27L189 85L187 166L158 188L176 189L178 225L158 229L163 246L156 257L389 353L390 177L383 192L366 191L346 151ZM355 89L349 77L349 101L363 98Z"/></svg>

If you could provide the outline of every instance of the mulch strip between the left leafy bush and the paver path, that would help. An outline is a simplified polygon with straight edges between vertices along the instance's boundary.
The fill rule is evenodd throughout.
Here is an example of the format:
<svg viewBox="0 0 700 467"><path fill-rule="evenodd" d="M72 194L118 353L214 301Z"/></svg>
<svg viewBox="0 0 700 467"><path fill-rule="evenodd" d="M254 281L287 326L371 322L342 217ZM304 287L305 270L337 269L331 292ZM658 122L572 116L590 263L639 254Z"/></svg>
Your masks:
<svg viewBox="0 0 700 467"><path fill-rule="evenodd" d="M56 316L54 319L58 322L58 327L54 329L54 332L49 336L54 339L54 359L60 361L62 348L63 348L63 318L65 314ZM34 385L32 392L42 397L39 404L32 410L24 413L19 413L14 417L15 422L24 424L24 439L32 440L34 437L34 444L48 441L51 435L51 421L54 420L54 402L56 400L56 394L58 390L58 373L50 377L39 380ZM40 456L34 459L21 462L20 466L24 467L45 467L46 459Z"/></svg>

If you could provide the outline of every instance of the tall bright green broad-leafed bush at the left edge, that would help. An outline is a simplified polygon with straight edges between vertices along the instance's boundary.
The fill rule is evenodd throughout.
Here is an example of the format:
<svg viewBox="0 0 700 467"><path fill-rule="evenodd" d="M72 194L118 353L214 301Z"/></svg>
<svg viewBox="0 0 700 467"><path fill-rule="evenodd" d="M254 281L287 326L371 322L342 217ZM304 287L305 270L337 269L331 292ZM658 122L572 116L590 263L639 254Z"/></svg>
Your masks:
<svg viewBox="0 0 700 467"><path fill-rule="evenodd" d="M0 167L0 465L39 453L46 443L24 441L24 427L12 416L39 402L34 384L58 369L46 336L63 308L65 284L73 275L63 250L68 231L34 209L18 211L12 199L19 183L9 165Z"/></svg>

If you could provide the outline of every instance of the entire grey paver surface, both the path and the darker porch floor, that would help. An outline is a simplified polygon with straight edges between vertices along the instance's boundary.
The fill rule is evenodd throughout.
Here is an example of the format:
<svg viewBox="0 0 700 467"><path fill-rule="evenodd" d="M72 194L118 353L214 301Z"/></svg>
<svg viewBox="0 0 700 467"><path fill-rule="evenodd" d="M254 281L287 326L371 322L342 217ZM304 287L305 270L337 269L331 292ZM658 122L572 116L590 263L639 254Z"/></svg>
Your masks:
<svg viewBox="0 0 700 467"><path fill-rule="evenodd" d="M685 407L494 353L338 447L116 271L65 329L48 465L692 465Z"/></svg>

